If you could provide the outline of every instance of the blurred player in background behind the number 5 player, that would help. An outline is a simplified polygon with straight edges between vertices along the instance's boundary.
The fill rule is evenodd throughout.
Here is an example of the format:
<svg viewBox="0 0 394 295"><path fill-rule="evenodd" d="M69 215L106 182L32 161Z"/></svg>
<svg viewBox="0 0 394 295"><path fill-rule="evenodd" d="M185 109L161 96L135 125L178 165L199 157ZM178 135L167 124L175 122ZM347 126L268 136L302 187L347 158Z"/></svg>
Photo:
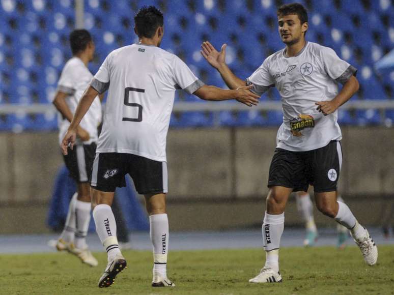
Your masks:
<svg viewBox="0 0 394 295"><path fill-rule="evenodd" d="M73 57L66 63L58 82L58 90L53 99L60 112L60 143L73 117L73 113L93 75L87 68L92 61L95 45L86 30L75 30L70 34ZM77 128L75 148L64 156L64 162L71 177L77 183L77 192L70 201L64 230L57 241L59 251L68 251L78 256L82 262L97 266L96 258L89 251L85 237L88 233L91 213L89 179L96 153L97 127L101 122L101 101L94 97L92 107Z"/></svg>

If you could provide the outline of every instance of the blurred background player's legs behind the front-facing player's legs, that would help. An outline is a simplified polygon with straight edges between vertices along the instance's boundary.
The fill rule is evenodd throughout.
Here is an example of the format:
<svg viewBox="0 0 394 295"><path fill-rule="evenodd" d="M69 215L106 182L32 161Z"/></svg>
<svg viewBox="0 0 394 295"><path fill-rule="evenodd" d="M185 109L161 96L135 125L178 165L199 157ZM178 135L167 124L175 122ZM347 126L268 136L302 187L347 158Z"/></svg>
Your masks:
<svg viewBox="0 0 394 295"><path fill-rule="evenodd" d="M337 201L344 202L340 195L336 198ZM318 230L315 223L315 218L313 215L313 203L311 200L311 195L307 191L296 192L296 202L297 210L301 214L303 220L305 221L306 237L304 240L305 247L315 246L318 239ZM338 223L336 225L337 230L337 241L336 247L339 249L344 249L346 240L348 239L348 229Z"/></svg>

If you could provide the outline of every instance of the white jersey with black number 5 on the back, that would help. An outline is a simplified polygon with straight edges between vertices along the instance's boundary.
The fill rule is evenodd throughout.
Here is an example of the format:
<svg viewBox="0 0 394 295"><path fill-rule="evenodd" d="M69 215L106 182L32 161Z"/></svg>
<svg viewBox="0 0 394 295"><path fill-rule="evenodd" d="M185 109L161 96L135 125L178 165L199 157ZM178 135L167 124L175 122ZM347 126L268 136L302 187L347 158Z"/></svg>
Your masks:
<svg viewBox="0 0 394 295"><path fill-rule="evenodd" d="M156 46L133 44L112 51L91 86L108 89L97 153L128 153L166 161L165 146L176 89L202 85L182 60Z"/></svg>

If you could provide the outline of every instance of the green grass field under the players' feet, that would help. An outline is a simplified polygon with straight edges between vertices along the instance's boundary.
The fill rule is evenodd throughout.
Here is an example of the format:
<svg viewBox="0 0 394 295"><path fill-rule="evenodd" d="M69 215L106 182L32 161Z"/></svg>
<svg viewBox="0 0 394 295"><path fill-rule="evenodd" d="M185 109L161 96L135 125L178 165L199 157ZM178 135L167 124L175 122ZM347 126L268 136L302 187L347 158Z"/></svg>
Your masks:
<svg viewBox="0 0 394 295"><path fill-rule="evenodd" d="M67 253L0 255L1 294L394 294L394 247L380 246L375 267L356 247L283 248L283 283L250 284L264 261L259 249L173 251L168 277L175 288L152 288L152 254L124 251L128 269L116 283L100 289L97 281L106 255L96 253L97 268Z"/></svg>

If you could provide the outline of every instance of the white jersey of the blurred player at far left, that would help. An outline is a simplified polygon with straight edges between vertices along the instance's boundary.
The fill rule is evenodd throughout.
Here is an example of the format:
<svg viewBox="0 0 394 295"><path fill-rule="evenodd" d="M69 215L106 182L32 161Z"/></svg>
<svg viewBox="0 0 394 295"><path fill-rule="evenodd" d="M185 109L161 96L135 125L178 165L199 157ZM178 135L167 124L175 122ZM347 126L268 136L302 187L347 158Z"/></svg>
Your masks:
<svg viewBox="0 0 394 295"><path fill-rule="evenodd" d="M93 75L89 69L85 64L83 64L80 58L76 56L70 58L64 66L58 82L58 91L68 94L66 103L73 114L75 113L79 100L82 98L83 92L85 92L86 88L89 86L92 77ZM80 123L80 126L88 131L90 135L90 139L88 141L84 141L84 144L97 142L97 127L101 123L101 116L101 102L100 98L97 96ZM62 114L59 114L58 125L59 143L61 143L63 137L66 135L68 127L70 126L70 122L68 122ZM76 144L81 143L82 142L77 139Z"/></svg>

